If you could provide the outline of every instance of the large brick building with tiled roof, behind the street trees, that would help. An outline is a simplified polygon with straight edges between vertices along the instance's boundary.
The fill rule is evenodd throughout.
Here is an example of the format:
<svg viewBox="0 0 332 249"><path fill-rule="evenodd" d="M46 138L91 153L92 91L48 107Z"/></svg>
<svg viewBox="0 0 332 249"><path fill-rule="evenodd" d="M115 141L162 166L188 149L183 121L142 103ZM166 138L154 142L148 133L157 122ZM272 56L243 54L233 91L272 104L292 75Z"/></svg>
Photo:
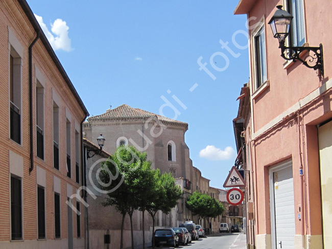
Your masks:
<svg viewBox="0 0 332 249"><path fill-rule="evenodd" d="M198 222L197 215L193 216L185 207L185 201L196 190L209 194L210 180L201 176L201 172L193 167L192 160L189 158L189 148L184 141L184 133L188 129L187 123L132 108L128 105L122 105L115 109L107 110L104 114L88 118L87 122L83 123L83 127L86 141L97 141L100 134L103 134L103 137L106 139L103 150L106 152L112 154L115 152L116 147L122 144L134 145L138 150L147 153L148 160L152 161L152 168L159 168L162 173L171 172L175 177L177 184L183 191L182 198L168 215L162 212L157 213L156 227L177 227L186 220ZM92 159L97 160L95 158ZM87 168L94 162L89 160L91 159L87 160ZM91 197L88 200L89 210L104 210L99 201L96 202ZM110 233L114 235L112 238L115 238L115 240L116 237L120 237L121 215L116 213L113 208L108 207L107 209L107 212L103 211L107 216L105 224L104 222L99 224L100 217L97 214L91 214L89 211L89 224L93 223L96 225L93 228L89 225L89 234L92 235L93 233L95 238L98 236L100 241L105 234L105 229L110 229ZM135 244L140 244L143 241L141 212L135 211L133 218L134 241ZM152 219L148 214L145 215L145 222L145 229L147 230L146 241L150 241ZM125 246L130 246L131 241L129 238L131 237L128 217L126 217L125 221L125 238L127 238L125 239ZM90 242L94 246L91 239ZM117 248L120 244L118 241L111 242L114 248Z"/></svg>

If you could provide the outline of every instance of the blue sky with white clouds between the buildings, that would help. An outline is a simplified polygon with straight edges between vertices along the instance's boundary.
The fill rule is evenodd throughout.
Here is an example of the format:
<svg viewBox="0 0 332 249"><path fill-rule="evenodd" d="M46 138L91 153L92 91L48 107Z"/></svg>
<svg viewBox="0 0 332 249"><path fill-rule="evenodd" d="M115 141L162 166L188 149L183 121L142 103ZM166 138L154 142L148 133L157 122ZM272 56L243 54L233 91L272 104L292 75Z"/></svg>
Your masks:
<svg viewBox="0 0 332 249"><path fill-rule="evenodd" d="M27 2L90 116L127 104L187 122L193 165L223 188L249 80L239 1Z"/></svg>

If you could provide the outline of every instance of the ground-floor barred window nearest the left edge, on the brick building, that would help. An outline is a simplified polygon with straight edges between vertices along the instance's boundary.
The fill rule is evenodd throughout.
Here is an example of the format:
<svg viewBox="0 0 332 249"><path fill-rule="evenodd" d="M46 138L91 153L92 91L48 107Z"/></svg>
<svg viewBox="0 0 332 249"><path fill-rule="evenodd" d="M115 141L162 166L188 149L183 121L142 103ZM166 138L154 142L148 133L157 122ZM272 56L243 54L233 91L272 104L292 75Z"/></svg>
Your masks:
<svg viewBox="0 0 332 249"><path fill-rule="evenodd" d="M13 176L10 178L10 198L12 240L21 240L23 238L21 179L15 178Z"/></svg>

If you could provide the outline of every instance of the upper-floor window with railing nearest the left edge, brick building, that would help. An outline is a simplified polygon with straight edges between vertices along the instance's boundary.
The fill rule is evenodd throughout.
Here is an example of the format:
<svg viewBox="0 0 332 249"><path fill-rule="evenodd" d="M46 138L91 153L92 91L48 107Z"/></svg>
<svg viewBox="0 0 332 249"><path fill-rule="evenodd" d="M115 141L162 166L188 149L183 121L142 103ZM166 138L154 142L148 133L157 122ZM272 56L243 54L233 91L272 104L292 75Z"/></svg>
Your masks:
<svg viewBox="0 0 332 249"><path fill-rule="evenodd" d="M21 143L21 58L11 47L10 81L10 139Z"/></svg>

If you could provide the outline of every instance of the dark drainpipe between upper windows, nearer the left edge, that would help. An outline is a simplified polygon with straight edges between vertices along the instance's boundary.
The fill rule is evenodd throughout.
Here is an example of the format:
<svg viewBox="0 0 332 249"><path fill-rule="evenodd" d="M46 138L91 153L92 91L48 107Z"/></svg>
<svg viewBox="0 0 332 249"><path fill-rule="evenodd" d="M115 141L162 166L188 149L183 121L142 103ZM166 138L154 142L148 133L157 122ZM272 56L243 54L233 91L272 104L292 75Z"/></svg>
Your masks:
<svg viewBox="0 0 332 249"><path fill-rule="evenodd" d="M39 39L40 36L40 30L36 30L37 36L33 40L33 42L29 46L29 112L30 112L30 168L29 168L29 175L31 175L31 172L33 170L34 162L33 162L33 103L32 103L32 47L36 43L36 41Z"/></svg>

